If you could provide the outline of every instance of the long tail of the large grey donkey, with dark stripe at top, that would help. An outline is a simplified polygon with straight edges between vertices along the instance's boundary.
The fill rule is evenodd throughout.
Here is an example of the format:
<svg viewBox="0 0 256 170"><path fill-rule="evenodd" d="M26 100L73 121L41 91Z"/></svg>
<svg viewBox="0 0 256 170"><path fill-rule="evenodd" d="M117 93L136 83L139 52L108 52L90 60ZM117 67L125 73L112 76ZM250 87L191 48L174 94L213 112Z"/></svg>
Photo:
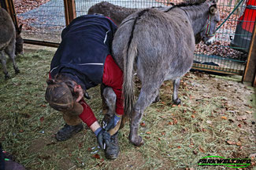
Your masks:
<svg viewBox="0 0 256 170"><path fill-rule="evenodd" d="M132 110L134 105L134 92L133 92L133 67L135 58L138 54L137 43L135 42L133 35L135 30L135 25L140 17L146 13L149 9L144 9L138 13L135 17L134 23L132 25L132 31L128 43L124 46L123 56L124 56L124 84L123 84L123 95L124 95L124 117L122 121L127 121L127 118L132 118ZM121 126L124 125L124 122Z"/></svg>

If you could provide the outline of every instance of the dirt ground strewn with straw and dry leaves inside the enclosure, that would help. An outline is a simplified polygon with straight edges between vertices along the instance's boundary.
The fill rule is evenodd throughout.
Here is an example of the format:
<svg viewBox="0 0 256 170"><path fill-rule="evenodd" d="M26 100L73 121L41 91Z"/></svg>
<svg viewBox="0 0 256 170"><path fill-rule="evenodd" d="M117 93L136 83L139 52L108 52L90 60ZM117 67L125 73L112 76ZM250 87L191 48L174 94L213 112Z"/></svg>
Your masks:
<svg viewBox="0 0 256 170"><path fill-rule="evenodd" d="M0 76L0 142L27 169L234 169L198 166L206 156L250 158L243 169L255 168L255 89L239 76L189 72L182 78L179 106L172 104L172 81L165 81L160 101L147 108L139 127L145 144L129 143L126 125L119 132L117 160L106 160L88 128L57 142L54 133L64 121L44 99L55 50L26 46L24 56L17 57L20 74L8 62L12 78ZM87 103L101 120L99 88L88 92Z"/></svg>

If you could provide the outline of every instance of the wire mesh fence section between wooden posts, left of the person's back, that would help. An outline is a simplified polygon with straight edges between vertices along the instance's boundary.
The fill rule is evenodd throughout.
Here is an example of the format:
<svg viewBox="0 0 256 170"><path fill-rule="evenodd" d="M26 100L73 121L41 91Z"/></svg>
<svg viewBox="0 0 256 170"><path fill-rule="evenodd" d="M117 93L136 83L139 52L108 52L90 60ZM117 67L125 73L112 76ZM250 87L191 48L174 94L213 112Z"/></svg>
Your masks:
<svg viewBox="0 0 256 170"><path fill-rule="evenodd" d="M63 0L14 0L19 24L25 39L60 42L65 28Z"/></svg>

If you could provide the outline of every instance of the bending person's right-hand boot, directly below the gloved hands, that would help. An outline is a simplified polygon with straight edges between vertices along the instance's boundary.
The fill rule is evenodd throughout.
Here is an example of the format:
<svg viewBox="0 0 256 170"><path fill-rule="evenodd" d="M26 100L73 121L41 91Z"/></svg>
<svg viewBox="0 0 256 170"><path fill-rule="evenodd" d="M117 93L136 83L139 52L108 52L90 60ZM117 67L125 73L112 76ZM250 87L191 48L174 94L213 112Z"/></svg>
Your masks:
<svg viewBox="0 0 256 170"><path fill-rule="evenodd" d="M111 136L110 144L106 147L105 156L107 159L117 159L119 154L118 132Z"/></svg>

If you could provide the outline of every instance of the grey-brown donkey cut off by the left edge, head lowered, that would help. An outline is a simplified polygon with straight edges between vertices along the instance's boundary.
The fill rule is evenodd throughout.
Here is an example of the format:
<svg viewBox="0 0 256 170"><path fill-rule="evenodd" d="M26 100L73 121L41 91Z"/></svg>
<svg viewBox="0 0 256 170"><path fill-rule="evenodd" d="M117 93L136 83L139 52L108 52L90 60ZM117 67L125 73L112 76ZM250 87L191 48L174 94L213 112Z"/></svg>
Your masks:
<svg viewBox="0 0 256 170"><path fill-rule="evenodd" d="M13 61L15 73L20 73L15 62L15 54L23 54L23 39L20 36L21 28L22 25L16 30L9 13L5 9L0 8L0 60L5 78L9 78L9 73L6 68L6 56L4 52Z"/></svg>

